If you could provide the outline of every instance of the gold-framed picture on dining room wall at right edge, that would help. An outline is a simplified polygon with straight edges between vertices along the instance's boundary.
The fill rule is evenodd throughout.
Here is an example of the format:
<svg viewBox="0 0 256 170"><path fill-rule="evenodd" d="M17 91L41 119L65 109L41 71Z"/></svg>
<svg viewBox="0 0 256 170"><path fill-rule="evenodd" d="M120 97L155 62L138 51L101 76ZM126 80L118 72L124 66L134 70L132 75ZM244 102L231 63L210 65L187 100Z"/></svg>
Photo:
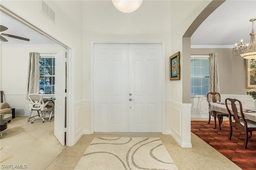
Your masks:
<svg viewBox="0 0 256 170"><path fill-rule="evenodd" d="M246 89L256 87L256 61L246 59Z"/></svg>

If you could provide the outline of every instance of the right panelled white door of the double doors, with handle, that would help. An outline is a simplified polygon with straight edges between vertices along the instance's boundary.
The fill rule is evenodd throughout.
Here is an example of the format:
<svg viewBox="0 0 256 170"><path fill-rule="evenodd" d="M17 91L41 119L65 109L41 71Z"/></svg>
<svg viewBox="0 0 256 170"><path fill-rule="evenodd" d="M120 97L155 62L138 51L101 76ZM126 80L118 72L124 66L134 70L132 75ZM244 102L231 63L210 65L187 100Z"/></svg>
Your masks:
<svg viewBox="0 0 256 170"><path fill-rule="evenodd" d="M129 45L129 132L162 132L162 45Z"/></svg>

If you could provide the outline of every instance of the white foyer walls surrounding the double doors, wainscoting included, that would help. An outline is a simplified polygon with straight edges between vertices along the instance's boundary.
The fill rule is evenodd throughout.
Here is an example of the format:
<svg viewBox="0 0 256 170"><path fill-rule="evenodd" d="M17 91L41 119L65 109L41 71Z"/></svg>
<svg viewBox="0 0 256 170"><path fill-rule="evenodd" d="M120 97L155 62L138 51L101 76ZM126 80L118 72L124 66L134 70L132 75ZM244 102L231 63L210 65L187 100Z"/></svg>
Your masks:
<svg viewBox="0 0 256 170"><path fill-rule="evenodd" d="M190 104L182 104L182 75L190 69L182 67L182 36L211 2L143 1L138 10L122 13L110 0L103 1L46 1L56 12L56 24L39 11L41 1L8 1L13 8L54 38L73 49L74 63L71 74L73 91L69 97L74 109L68 115L68 138L73 145L82 135L90 132L90 43L91 41L163 41L165 44L165 130L183 147L191 146ZM181 80L169 80L169 57L180 51ZM72 70L74 69L74 70ZM71 84L72 85L72 84ZM190 87L188 87L190 88ZM72 90L71 89L71 90ZM176 92L178 91L178 94ZM174 113L174 114L172 114ZM70 142L70 141L69 141ZM69 145L69 144L68 144Z"/></svg>

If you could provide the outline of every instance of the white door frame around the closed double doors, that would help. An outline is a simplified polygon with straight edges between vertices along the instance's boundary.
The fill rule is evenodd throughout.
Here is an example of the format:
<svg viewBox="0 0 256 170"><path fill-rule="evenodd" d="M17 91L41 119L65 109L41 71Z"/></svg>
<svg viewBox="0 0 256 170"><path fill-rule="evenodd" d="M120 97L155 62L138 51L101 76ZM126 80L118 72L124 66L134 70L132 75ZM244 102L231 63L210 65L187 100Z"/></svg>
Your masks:
<svg viewBox="0 0 256 170"><path fill-rule="evenodd" d="M164 41L91 41L90 58L90 133L94 133L94 44L161 44L162 45L162 132L165 131L165 43Z"/></svg>

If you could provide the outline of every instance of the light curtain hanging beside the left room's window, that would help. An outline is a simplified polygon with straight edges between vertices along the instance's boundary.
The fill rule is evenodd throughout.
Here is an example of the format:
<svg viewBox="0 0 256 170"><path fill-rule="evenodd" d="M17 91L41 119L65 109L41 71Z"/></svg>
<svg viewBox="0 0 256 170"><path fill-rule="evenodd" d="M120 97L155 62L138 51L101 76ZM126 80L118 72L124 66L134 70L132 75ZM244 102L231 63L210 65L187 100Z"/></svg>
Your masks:
<svg viewBox="0 0 256 170"><path fill-rule="evenodd" d="M39 55L36 52L29 53L26 100L28 100L28 94L39 93Z"/></svg>

